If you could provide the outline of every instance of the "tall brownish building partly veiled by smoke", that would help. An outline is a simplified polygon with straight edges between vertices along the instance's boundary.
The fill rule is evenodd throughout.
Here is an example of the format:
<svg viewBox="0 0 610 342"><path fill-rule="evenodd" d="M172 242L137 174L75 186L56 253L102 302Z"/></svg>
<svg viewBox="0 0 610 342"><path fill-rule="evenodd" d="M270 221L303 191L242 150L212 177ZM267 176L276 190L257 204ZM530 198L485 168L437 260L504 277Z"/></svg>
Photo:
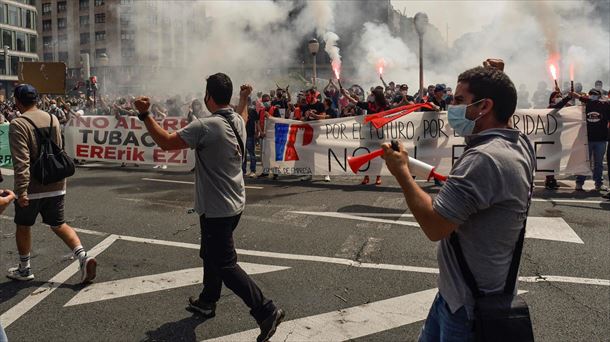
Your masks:
<svg viewBox="0 0 610 342"><path fill-rule="evenodd" d="M188 1L36 0L38 55L66 63L69 89L84 79L81 56L88 54L90 75L97 76L102 92L145 90L141 75L183 65L176 47L184 46L187 21L180 16L180 23L170 22L170 6L189 13Z"/></svg>

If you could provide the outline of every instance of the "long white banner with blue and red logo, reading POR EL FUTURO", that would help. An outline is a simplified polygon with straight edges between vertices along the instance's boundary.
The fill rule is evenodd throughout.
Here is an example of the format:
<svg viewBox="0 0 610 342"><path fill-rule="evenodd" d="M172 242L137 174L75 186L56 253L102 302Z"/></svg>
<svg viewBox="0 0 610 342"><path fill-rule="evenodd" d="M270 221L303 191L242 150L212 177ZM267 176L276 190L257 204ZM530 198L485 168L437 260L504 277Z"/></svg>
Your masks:
<svg viewBox="0 0 610 342"><path fill-rule="evenodd" d="M464 151L464 138L454 135L446 112L414 112L376 129L364 116L322 121L268 118L263 143L266 172L286 175L353 175L347 158L380 148L383 142L400 140L411 157L448 174ZM513 127L524 132L536 148L537 176L590 175L587 127L582 107L517 110ZM384 161L376 158L359 174L389 175Z"/></svg>

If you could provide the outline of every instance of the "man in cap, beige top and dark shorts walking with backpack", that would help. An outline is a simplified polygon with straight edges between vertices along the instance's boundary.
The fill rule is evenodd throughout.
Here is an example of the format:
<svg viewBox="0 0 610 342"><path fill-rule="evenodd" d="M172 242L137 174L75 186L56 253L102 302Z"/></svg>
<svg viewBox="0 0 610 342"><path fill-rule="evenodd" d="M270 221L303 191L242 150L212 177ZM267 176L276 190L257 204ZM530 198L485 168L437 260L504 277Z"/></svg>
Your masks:
<svg viewBox="0 0 610 342"><path fill-rule="evenodd" d="M36 162L40 148L36 127L42 134L48 132L53 142L62 146L59 121L57 117L36 107L38 93L31 85L17 86L14 96L17 108L23 113L20 118L13 120L9 127L15 170L14 192L17 196L14 222L17 225L15 240L19 251L19 264L10 268L7 276L14 280L34 279L30 265L32 226L40 214L42 222L49 225L53 233L72 250L80 262L80 281L88 283L96 277L97 261L87 255L78 235L64 219L66 180L43 185L30 173L30 166Z"/></svg>

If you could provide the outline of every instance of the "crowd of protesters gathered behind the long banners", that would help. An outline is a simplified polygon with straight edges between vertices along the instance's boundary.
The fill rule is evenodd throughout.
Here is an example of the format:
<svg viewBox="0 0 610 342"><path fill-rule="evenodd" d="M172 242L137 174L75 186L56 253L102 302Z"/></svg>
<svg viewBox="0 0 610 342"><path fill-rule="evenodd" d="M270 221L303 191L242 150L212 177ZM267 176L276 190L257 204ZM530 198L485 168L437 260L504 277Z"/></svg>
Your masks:
<svg viewBox="0 0 610 342"><path fill-rule="evenodd" d="M451 104L453 100L452 89L441 83L431 84L423 91L413 93L409 93L407 84L386 83L383 77L380 77L380 83L365 91L358 84L343 87L340 81L331 79L319 87L321 91L312 87L291 93L289 86L282 88L276 85L276 89L269 90L269 92L257 92L256 96L250 99L246 141L247 160L243 165L244 174L250 178L269 176L267 172L256 174L257 156L255 152L257 145L260 145L262 149L265 137L265 119L268 117L315 121L375 114L414 103L431 103L434 110L446 110L447 105ZM589 92L583 92L583 85L578 82L574 84L573 89L569 83L564 84L563 88L563 90L559 88L549 90L545 82L539 82L536 91L530 97L526 86L522 84L518 90L517 108L559 110L564 106L585 105L589 132L589 159L592 162L595 189L607 191L601 174L604 154L606 154L606 158L610 158L610 152L607 152L610 150L607 149L607 142L610 141L608 91L603 89L603 83L599 80L595 82L594 88ZM93 98L82 93L69 96L42 96L39 99L38 108L57 116L63 125L71 117L81 115L137 116L134 106L135 99L134 96L111 97L108 95ZM184 97L174 95L152 98L151 103L150 111L155 119L183 117L191 122L211 115L203 105L201 93L187 94ZM20 115L11 99L0 98L0 112L2 113L0 123L10 122ZM165 165L155 167L166 168ZM279 174L273 174L273 179L278 177ZM303 177L302 180L311 180L311 176ZM324 180L329 182L330 177L325 176ZM368 183L369 177L365 176L361 184ZM584 177L578 177L576 190L582 190L583 183ZM381 184L381 177L376 177L375 184ZM554 176L547 176L545 187L548 190L559 188Z"/></svg>

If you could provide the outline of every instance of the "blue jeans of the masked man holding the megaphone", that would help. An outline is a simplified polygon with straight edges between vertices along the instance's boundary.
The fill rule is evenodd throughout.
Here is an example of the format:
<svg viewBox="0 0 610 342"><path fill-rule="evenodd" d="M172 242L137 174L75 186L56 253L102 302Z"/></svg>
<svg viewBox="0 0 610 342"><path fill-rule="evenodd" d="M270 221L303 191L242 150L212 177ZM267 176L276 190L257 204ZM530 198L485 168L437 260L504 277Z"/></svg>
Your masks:
<svg viewBox="0 0 610 342"><path fill-rule="evenodd" d="M426 322L419 335L419 342L474 341L473 321L468 319L465 307L454 314L440 293L436 295Z"/></svg>

